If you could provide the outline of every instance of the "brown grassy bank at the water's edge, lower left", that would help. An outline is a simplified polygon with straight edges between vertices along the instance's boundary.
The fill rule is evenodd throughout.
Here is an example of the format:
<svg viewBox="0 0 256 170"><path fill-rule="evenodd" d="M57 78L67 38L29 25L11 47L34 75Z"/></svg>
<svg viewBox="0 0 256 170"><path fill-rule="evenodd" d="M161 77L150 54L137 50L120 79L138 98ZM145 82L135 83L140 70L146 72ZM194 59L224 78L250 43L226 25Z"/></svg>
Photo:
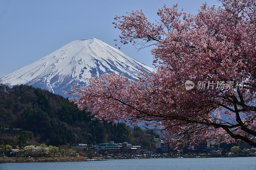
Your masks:
<svg viewBox="0 0 256 170"><path fill-rule="evenodd" d="M5 163L14 162L80 162L88 161L86 157L18 157L18 158L4 158ZM0 162L3 162L3 158L0 158Z"/></svg>

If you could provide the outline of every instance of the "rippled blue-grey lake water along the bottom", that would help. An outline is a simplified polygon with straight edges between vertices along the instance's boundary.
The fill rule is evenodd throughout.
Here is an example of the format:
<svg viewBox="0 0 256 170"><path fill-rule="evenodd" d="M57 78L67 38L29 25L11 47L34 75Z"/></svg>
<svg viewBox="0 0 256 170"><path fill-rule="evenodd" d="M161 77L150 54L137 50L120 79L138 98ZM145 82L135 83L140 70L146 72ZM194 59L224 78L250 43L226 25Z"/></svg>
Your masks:
<svg viewBox="0 0 256 170"><path fill-rule="evenodd" d="M256 157L242 158L162 158L162 159L108 159L87 162L44 162L6 163L0 170L162 170L162 169L202 169L202 170L256 170Z"/></svg>

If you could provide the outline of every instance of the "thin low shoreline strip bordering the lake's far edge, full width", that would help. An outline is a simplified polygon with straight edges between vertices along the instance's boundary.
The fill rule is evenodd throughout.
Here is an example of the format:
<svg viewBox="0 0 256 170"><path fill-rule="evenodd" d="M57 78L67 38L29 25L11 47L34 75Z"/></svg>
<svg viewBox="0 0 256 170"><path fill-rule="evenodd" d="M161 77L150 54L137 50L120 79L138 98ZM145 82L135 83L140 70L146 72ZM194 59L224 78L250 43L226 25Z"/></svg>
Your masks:
<svg viewBox="0 0 256 170"><path fill-rule="evenodd" d="M229 156L218 156L218 155L183 155L183 156L155 156L155 157L132 157L132 158L104 158L104 157L13 157L13 158L0 158L0 163L30 163L30 162L85 162L85 161L103 161L108 159L150 159L150 158L237 158L237 157L256 157L255 155L229 155Z"/></svg>

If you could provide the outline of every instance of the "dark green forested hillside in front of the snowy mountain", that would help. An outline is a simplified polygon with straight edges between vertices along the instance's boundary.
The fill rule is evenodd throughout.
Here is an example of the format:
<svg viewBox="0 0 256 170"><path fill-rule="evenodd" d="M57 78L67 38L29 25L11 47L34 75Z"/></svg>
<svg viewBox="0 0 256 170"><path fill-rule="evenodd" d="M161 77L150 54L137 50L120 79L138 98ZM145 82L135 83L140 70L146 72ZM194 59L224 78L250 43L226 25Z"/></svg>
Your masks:
<svg viewBox="0 0 256 170"><path fill-rule="evenodd" d="M131 128L124 123L92 121L86 110L79 110L67 98L28 85L8 88L0 84L0 124L7 128L32 131L34 140L47 145L75 142L130 142L150 147L154 131ZM4 143L0 141L0 144Z"/></svg>

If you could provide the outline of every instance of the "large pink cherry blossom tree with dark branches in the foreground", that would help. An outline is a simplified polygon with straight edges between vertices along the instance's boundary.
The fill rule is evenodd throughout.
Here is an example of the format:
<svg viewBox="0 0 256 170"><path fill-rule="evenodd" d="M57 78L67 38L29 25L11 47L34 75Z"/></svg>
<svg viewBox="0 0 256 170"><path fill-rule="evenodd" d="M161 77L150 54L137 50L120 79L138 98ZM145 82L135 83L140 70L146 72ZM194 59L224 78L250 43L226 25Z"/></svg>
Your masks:
<svg viewBox="0 0 256 170"><path fill-rule="evenodd" d="M196 15L164 5L154 22L142 10L116 16L117 45L151 46L157 71L142 70L138 81L93 77L89 87L74 85L70 100L95 119L161 126L173 146L213 139L256 146L256 1L220 3Z"/></svg>

